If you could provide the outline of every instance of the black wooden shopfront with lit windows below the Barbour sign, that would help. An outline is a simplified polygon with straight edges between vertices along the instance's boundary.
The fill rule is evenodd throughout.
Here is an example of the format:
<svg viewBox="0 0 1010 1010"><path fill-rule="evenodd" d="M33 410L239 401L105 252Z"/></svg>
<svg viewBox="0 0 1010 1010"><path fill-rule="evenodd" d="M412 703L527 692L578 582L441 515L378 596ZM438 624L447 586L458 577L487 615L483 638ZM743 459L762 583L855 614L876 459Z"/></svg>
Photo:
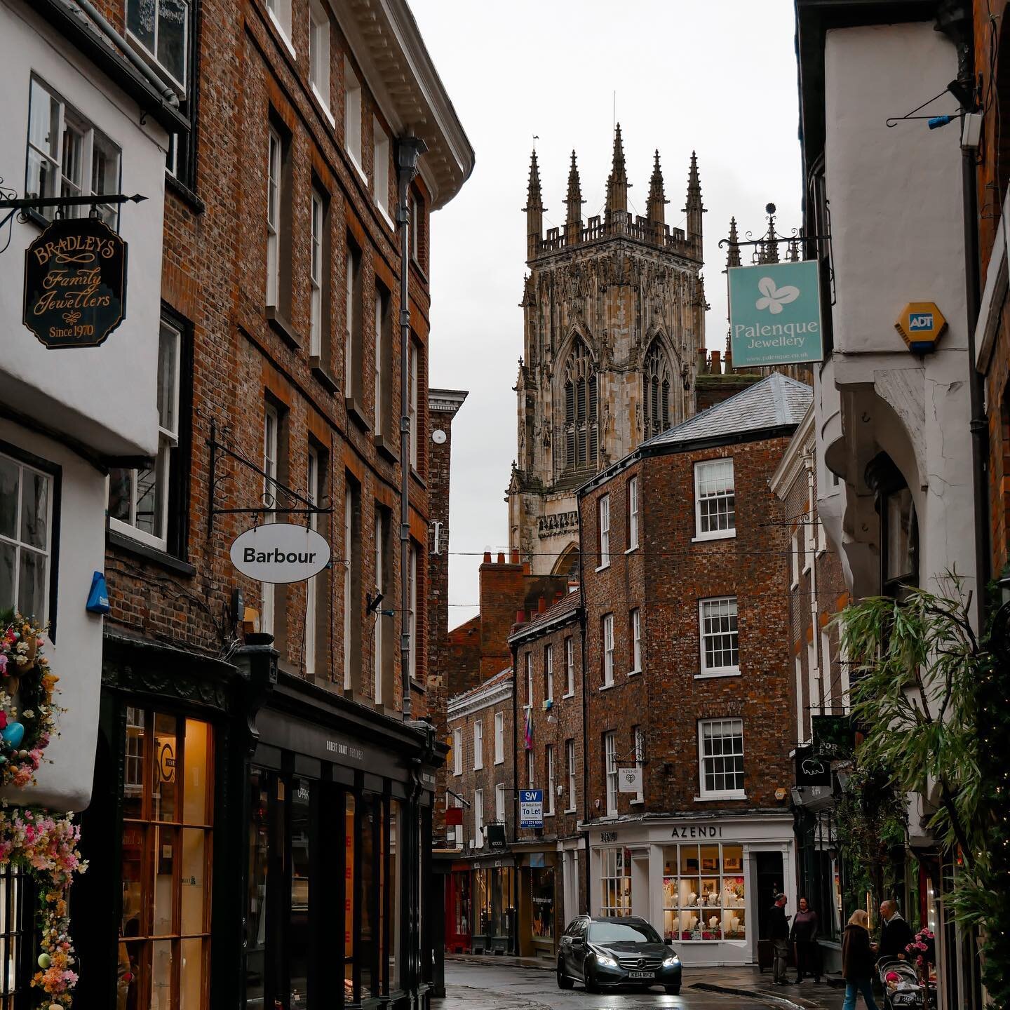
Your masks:
<svg viewBox="0 0 1010 1010"><path fill-rule="evenodd" d="M276 656L255 639L232 665L106 636L91 866L72 894L82 1006L425 999L442 748Z"/></svg>

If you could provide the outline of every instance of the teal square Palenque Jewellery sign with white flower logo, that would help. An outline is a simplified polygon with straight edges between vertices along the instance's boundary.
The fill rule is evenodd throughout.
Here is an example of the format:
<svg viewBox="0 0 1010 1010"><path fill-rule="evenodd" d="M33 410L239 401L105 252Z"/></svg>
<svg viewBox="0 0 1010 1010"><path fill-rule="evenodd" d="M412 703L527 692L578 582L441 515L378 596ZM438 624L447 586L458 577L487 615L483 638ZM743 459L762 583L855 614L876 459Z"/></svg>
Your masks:
<svg viewBox="0 0 1010 1010"><path fill-rule="evenodd" d="M730 268L729 335L736 369L821 361L817 261Z"/></svg>

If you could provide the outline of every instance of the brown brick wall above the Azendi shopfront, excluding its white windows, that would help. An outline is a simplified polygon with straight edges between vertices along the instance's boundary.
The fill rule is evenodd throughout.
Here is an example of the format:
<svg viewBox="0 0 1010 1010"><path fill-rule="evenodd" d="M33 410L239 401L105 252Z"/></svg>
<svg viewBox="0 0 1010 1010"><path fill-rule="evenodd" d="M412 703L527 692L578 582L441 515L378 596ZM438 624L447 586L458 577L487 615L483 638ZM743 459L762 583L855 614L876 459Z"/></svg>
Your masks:
<svg viewBox="0 0 1010 1010"><path fill-rule="evenodd" d="M769 489L788 439L772 438L649 457L580 501L584 543L598 536L598 503L610 496L609 567L586 556L590 816L606 812L603 735L616 733L619 764L634 759L633 726L644 733L644 802L617 798L617 812L780 807L775 792L792 782L788 535L784 509ZM692 542L694 464L731 456L736 535ZM627 547L627 482L640 488L640 546ZM699 601L736 596L739 676L699 678ZM632 674L629 611L641 613L642 673ZM614 686L603 688L601 622L614 615ZM746 799L698 802L701 719L743 721ZM788 796L788 793L787 793Z"/></svg>

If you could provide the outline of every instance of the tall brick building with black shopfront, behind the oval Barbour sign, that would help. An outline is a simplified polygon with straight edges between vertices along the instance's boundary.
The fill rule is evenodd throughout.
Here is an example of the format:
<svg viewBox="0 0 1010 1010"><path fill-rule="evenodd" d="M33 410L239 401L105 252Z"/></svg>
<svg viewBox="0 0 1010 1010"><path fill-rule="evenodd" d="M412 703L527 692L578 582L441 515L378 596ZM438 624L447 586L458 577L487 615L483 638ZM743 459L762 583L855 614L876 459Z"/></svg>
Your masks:
<svg viewBox="0 0 1010 1010"><path fill-rule="evenodd" d="M403 0L99 6L190 128L167 153L161 447L110 478L79 998L416 1005L444 751L405 719L427 714L428 229L473 152ZM240 532L285 521L332 565L288 585L232 568Z"/></svg>

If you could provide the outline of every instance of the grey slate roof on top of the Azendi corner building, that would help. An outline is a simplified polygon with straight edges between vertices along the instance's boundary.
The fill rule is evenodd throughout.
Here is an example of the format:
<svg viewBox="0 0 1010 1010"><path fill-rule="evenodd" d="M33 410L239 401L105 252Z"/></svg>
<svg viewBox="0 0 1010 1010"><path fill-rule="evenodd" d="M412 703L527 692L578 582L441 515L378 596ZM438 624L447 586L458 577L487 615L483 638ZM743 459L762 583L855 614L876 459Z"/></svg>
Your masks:
<svg viewBox="0 0 1010 1010"><path fill-rule="evenodd" d="M676 445L744 431L799 424L812 400L813 390L805 383L773 372L742 393L654 435L639 447Z"/></svg>

